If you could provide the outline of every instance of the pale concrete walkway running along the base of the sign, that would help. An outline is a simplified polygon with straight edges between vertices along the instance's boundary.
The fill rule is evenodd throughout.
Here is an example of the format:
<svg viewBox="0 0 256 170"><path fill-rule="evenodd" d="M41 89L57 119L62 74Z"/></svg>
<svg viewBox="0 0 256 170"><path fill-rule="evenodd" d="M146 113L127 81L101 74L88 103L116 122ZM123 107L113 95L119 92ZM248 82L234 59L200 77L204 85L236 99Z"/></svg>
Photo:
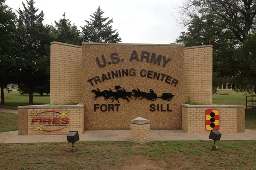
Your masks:
<svg viewBox="0 0 256 170"><path fill-rule="evenodd" d="M256 140L256 130L245 133L222 133L221 141ZM183 130L150 130L151 141L212 141L209 133L186 133ZM7 137L5 137L7 136ZM18 136L17 131L0 133L2 143L67 142L67 135ZM130 130L88 130L80 141L130 141Z"/></svg>

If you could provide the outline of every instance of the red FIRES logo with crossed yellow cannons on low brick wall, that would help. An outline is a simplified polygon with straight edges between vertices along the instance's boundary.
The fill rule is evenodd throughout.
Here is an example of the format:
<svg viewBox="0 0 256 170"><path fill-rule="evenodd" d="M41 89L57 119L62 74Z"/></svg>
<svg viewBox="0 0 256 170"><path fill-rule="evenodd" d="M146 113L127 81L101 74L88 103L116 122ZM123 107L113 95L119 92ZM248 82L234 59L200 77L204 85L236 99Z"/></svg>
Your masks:
<svg viewBox="0 0 256 170"><path fill-rule="evenodd" d="M46 132L54 132L54 131L58 131L58 130L62 130L64 129L67 124L69 123L69 118L67 117L67 112L58 112L58 111L43 111L41 113L38 113L37 115L41 115L43 113L58 113L59 115L55 118L33 118L31 121L31 125L34 125L35 123L39 124L39 126L35 126L34 130L42 130L42 131L46 131ZM55 130L46 130L43 129L42 127L47 127L47 126L64 126L62 128L59 129L55 129Z"/></svg>

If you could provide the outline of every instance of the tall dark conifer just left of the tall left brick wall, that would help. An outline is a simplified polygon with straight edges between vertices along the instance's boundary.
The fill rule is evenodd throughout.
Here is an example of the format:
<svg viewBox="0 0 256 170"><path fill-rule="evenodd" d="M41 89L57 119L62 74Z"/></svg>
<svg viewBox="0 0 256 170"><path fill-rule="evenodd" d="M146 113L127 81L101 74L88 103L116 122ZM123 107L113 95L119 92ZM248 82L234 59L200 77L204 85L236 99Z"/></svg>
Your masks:
<svg viewBox="0 0 256 170"><path fill-rule="evenodd" d="M49 28L43 25L44 13L39 14L34 0L26 0L24 10L18 9L20 31L20 58L22 67L18 74L18 86L27 89L29 105L33 105L35 89L49 82Z"/></svg>

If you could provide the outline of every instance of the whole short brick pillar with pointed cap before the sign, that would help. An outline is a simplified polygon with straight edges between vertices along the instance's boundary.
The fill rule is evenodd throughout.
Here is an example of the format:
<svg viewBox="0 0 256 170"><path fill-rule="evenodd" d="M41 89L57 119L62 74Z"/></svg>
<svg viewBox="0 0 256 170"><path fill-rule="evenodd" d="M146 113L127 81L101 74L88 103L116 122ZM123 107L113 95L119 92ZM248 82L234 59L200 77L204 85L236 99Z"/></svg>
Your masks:
<svg viewBox="0 0 256 170"><path fill-rule="evenodd" d="M130 140L139 143L150 141L150 121L141 117L131 120Z"/></svg>

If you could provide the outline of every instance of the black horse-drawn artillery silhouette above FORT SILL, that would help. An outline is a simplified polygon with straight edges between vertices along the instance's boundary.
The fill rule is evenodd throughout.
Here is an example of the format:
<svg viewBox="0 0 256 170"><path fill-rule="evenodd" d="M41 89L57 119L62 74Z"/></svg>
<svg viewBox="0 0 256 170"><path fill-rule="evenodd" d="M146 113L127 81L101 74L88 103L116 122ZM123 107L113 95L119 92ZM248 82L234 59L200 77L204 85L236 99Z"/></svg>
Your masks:
<svg viewBox="0 0 256 170"><path fill-rule="evenodd" d="M112 102L116 100L119 103L119 98L122 98L123 100L127 100L127 102L129 102L130 100L128 98L132 99L131 96L134 96L135 99L141 99L141 100L147 99L147 100L151 100L151 101L154 101L157 98L171 101L174 96L171 93L163 93L162 96L157 96L157 94L153 91L153 89L150 89L149 93L140 91L140 89L138 89L138 88L137 88L137 90L134 89L131 92L126 91L125 88L120 90L121 86L119 86L119 85L116 85L115 89L116 89L116 91L112 91L111 88L109 88L109 91L104 90L102 92L99 90L99 88L97 88L97 91L92 90L92 92L95 93L95 96L93 97L93 99L96 100L97 97L103 96L105 100L111 99ZM132 94L132 93L134 93L134 94Z"/></svg>

